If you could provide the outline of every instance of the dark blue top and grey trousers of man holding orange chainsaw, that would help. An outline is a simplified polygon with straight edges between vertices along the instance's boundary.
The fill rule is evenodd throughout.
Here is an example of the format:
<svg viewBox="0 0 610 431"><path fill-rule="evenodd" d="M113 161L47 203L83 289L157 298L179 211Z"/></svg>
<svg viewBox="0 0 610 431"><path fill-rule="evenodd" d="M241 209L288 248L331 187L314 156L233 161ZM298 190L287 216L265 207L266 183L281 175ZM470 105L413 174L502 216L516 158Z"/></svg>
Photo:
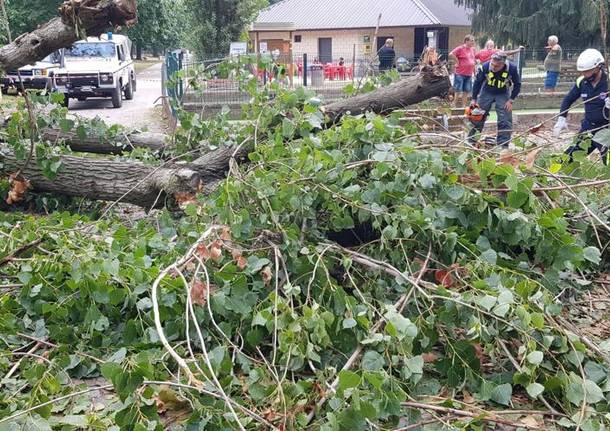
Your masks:
<svg viewBox="0 0 610 431"><path fill-rule="evenodd" d="M484 63L477 72L472 88L472 99L477 101L479 107L485 111L485 115L481 121L473 122L473 127L468 132L468 142L472 144L476 142L476 135L483 131L491 105L495 103L498 114L496 143L507 148L513 131L513 113L506 110L504 105L507 101L515 100L519 96L521 77L517 66L509 61L506 61L504 67L498 72L491 71L489 63L489 61Z"/></svg>

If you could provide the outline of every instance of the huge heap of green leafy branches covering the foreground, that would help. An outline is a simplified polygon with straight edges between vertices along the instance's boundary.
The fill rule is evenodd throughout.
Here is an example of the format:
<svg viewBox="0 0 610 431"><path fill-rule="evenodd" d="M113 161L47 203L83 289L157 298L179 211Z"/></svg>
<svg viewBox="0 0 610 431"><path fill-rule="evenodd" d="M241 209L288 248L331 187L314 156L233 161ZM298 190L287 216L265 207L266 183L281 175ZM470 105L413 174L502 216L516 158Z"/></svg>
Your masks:
<svg viewBox="0 0 610 431"><path fill-rule="evenodd" d="M139 160L121 198L164 192L179 217L0 214L0 427L604 429L608 334L570 304L605 283L606 168L424 133L378 97L421 82L341 110L272 84L249 122L181 113L169 168L158 149L87 158L102 177L123 163L115 178ZM67 147L93 126L54 109L37 124L66 145L40 144L11 200L82 157ZM3 166L30 126L14 115ZM218 154L202 190L187 171Z"/></svg>

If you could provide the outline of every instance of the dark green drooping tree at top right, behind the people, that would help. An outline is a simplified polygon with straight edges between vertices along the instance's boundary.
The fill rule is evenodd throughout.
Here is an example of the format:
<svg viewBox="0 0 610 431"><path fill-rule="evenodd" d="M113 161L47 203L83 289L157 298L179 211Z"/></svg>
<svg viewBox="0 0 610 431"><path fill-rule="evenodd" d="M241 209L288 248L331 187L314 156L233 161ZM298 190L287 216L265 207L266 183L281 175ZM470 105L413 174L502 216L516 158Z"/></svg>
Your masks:
<svg viewBox="0 0 610 431"><path fill-rule="evenodd" d="M455 0L474 10L475 31L488 33L503 44L532 48L546 45L551 34L564 47L602 46L600 2L608 0Z"/></svg>

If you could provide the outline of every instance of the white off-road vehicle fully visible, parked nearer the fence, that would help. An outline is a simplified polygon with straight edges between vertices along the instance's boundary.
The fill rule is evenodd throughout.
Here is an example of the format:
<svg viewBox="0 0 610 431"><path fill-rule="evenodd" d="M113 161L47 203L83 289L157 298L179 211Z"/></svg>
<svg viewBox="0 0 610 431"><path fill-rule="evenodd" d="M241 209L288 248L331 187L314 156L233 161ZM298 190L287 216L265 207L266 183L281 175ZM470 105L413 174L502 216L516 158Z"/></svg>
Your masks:
<svg viewBox="0 0 610 431"><path fill-rule="evenodd" d="M133 99L136 72L131 59L131 41L127 36L104 34L89 37L64 50L64 64L54 73L55 88L70 99L90 97L112 99L112 106Z"/></svg>

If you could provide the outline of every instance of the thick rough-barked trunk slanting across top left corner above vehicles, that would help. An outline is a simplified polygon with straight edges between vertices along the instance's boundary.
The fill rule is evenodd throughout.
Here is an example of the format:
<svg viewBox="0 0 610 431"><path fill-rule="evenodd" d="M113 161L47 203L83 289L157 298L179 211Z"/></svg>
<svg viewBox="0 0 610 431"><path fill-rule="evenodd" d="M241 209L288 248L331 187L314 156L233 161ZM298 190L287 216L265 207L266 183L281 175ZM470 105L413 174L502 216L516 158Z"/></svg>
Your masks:
<svg viewBox="0 0 610 431"><path fill-rule="evenodd" d="M137 21L136 0L67 0L59 12L60 17L0 47L0 69L16 70L85 35L99 36L107 29Z"/></svg>

